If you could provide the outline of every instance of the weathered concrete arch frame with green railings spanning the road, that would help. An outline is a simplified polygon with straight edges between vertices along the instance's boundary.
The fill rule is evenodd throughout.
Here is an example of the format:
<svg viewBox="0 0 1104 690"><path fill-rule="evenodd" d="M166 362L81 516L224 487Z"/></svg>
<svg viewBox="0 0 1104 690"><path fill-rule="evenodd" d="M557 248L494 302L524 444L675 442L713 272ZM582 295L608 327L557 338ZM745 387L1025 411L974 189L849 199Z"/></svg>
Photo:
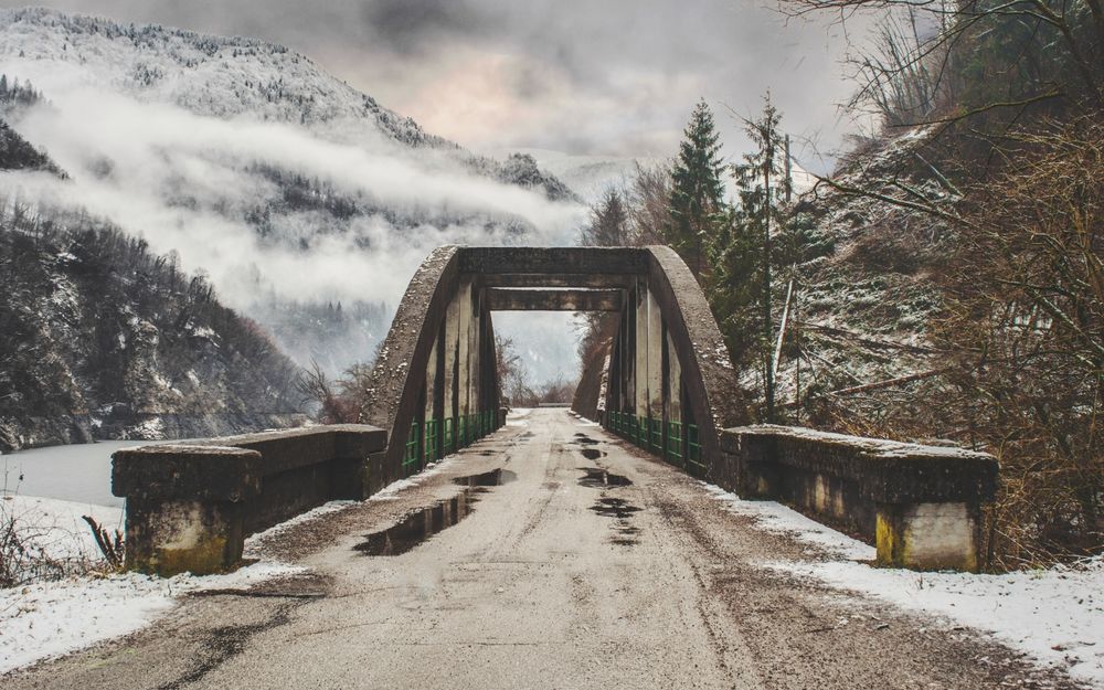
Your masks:
<svg viewBox="0 0 1104 690"><path fill-rule="evenodd" d="M745 407L705 296L673 251L445 246L415 273L372 371L362 421L389 443L371 458L371 490L502 423L491 312L517 309L616 314L603 423L722 476L720 431L746 423Z"/></svg>

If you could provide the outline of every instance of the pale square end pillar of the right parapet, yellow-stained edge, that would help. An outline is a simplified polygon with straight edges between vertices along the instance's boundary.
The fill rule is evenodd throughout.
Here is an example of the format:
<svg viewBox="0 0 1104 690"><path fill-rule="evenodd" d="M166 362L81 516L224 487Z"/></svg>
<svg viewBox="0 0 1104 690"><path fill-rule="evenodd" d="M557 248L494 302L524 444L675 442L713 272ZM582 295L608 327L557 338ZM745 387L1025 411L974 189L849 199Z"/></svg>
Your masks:
<svg viewBox="0 0 1104 690"><path fill-rule="evenodd" d="M976 572L978 511L967 503L878 503L878 564Z"/></svg>

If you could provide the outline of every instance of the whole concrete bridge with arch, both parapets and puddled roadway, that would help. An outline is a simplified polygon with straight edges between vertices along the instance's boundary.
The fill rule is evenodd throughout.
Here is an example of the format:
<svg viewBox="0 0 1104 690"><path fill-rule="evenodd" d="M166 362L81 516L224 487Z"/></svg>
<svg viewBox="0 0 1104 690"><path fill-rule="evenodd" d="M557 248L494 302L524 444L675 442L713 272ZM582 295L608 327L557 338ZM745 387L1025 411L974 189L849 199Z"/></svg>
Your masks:
<svg viewBox="0 0 1104 690"><path fill-rule="evenodd" d="M609 315L596 420L505 408L492 319L519 309ZM1032 682L1008 650L763 566L820 556L729 510L722 490L786 502L885 566L976 570L997 465L750 425L705 298L668 248L442 247L411 280L371 389L365 424L118 452L128 567L221 572L261 533L255 550L307 571L185 602L22 687ZM349 502L264 532L333 499Z"/></svg>

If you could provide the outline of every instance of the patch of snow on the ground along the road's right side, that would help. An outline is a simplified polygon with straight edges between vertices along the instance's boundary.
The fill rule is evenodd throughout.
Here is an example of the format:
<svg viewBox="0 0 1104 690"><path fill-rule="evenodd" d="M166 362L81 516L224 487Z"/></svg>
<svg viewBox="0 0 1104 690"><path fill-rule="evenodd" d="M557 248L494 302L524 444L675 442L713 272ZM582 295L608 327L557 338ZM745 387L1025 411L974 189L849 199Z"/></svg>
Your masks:
<svg viewBox="0 0 1104 690"><path fill-rule="evenodd" d="M769 567L989 631L1041 666L1063 668L1079 681L1104 687L1104 558L1004 575L880 569L868 564L872 546L774 501L744 501L705 487L763 529L792 534L829 555Z"/></svg>

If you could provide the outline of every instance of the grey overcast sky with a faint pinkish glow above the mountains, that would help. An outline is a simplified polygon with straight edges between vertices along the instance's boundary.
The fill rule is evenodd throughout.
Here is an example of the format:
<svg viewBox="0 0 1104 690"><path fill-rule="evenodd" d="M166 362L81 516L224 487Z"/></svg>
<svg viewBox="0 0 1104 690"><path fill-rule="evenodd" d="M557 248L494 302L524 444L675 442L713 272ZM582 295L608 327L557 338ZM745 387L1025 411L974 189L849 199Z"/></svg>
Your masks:
<svg viewBox="0 0 1104 690"><path fill-rule="evenodd" d="M786 23L771 0L44 0L121 22L257 36L468 148L671 156L694 102L725 112L769 88L784 126L830 151L850 128L842 32ZM12 4L3 1L3 4ZM854 26L849 26L854 30ZM795 151L821 170L809 150Z"/></svg>

